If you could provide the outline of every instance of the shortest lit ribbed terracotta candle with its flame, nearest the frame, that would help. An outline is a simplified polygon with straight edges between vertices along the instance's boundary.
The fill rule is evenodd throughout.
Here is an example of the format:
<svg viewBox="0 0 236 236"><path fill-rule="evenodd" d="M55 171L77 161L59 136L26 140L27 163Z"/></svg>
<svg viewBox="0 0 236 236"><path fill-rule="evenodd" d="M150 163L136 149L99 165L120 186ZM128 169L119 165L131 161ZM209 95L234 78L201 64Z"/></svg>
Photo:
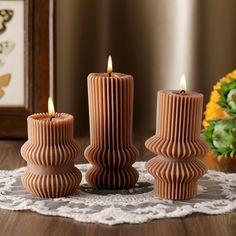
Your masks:
<svg viewBox="0 0 236 236"><path fill-rule="evenodd" d="M28 117L28 141L21 148L27 161L22 176L25 188L38 197L63 197L79 186L81 172L74 166L79 148L73 139L73 116L55 113L49 99L49 113Z"/></svg>

